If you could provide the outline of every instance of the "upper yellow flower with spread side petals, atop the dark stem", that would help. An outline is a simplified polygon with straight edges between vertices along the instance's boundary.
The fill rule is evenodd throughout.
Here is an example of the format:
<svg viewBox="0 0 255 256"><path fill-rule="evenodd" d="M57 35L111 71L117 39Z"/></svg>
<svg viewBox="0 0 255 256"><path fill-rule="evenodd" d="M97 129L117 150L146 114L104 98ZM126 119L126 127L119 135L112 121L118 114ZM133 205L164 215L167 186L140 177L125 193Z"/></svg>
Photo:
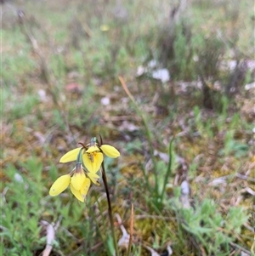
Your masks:
<svg viewBox="0 0 255 256"><path fill-rule="evenodd" d="M82 161L88 172L96 174L104 160L103 153L111 158L120 156L120 152L111 145L98 145L96 138L91 139L88 145L76 148L62 156L59 162L72 162L77 159L77 154L82 151Z"/></svg>

